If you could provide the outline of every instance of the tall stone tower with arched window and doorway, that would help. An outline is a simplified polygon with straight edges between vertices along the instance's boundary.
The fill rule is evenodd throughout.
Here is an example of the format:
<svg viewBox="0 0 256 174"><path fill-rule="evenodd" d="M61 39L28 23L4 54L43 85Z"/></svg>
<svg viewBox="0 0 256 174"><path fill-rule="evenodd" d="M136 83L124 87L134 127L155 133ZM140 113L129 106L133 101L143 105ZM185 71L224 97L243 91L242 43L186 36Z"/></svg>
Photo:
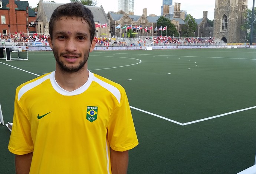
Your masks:
<svg viewBox="0 0 256 174"><path fill-rule="evenodd" d="M216 0L213 35L227 43L244 43L244 23L248 0Z"/></svg>

